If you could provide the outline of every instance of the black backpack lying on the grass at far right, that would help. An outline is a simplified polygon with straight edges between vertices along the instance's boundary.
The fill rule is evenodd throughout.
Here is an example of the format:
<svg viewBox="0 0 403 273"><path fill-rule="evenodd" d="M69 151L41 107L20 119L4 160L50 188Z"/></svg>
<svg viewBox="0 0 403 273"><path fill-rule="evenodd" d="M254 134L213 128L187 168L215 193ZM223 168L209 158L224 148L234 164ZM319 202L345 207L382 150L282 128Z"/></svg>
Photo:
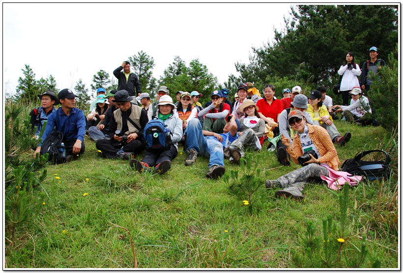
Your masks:
<svg viewBox="0 0 403 273"><path fill-rule="evenodd" d="M385 154L385 161L363 161L363 157L370 153L381 152ZM342 171L349 172L354 175L361 175L374 181L381 178L389 178L390 176L390 157L385 151L369 150L362 151L355 155L354 158L347 159L342 165Z"/></svg>

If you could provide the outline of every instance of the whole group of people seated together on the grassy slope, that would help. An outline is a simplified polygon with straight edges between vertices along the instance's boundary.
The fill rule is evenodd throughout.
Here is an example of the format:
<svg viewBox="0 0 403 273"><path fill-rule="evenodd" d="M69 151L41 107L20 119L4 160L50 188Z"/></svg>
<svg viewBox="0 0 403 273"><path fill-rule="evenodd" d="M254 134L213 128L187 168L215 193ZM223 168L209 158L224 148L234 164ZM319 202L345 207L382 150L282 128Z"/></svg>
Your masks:
<svg viewBox="0 0 403 273"><path fill-rule="evenodd" d="M206 177L216 179L225 173L224 159L240 164L246 148L261 150L266 141L283 165L289 165L290 160L298 164L298 158L310 151L306 166L266 181L267 188L284 188L277 196L302 198L308 178L326 176L329 168L338 170L340 161L334 143L343 146L351 138L349 132L341 136L333 123L335 114L343 111L347 121L359 123L371 112L359 86L350 92L348 107L333 106L326 88L317 89L306 97L300 86L286 88L280 100L275 97L273 85L265 85L262 96L253 83L247 82L238 86L233 104L228 100L229 91L222 89L213 91L211 101L203 108L198 91L178 91L174 103L167 86L160 86L158 100L151 103L148 93L134 97L125 89L106 92L98 88L87 117L75 108L77 96L71 90L63 89L58 96L48 90L38 96L41 107L30 113L32 134L36 136L47 121L34 154L46 153L41 151L41 145L56 130L64 136L69 162L84 153L84 137L88 134L96 141L101 156L129 160L130 166L139 172L163 174L171 168L178 144L183 144L187 153L185 165L193 165L198 156L204 156L209 159ZM55 109L58 104L61 107ZM165 149L145 148L148 139L144 138L144 128L154 119L161 120L164 130L169 132L172 144ZM135 159L144 149L144 157Z"/></svg>

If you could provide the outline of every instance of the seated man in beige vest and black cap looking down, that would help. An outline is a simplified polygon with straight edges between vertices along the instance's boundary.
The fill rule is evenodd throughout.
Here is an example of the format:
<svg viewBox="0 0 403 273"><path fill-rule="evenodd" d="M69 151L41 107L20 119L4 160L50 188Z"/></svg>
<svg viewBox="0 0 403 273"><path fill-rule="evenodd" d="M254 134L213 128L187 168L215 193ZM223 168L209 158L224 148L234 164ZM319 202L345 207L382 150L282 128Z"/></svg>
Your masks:
<svg viewBox="0 0 403 273"><path fill-rule="evenodd" d="M129 160L144 150L144 126L148 122L143 108L131 103L133 98L126 90L119 90L113 102L116 109L109 121L109 137L99 139L96 148L108 158Z"/></svg>

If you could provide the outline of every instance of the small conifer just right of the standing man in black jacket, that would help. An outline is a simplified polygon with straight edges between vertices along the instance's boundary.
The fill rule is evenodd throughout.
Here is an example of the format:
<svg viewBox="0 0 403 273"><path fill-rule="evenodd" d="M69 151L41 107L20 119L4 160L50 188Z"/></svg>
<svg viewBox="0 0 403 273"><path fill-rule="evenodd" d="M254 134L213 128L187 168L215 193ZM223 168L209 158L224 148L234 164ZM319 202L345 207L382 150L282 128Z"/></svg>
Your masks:
<svg viewBox="0 0 403 273"><path fill-rule="evenodd" d="M139 77L142 86L142 92L153 93L156 88L156 79L152 77L152 69L154 68L154 58L140 51L137 55L129 57L134 73Z"/></svg>

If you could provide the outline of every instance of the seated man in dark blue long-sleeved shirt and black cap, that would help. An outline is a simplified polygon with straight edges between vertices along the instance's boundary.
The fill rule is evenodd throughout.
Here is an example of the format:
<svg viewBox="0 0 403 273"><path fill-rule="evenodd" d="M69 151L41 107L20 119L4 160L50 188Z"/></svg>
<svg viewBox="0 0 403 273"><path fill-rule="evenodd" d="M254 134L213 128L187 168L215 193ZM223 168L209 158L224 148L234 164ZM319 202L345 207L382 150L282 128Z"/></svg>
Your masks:
<svg viewBox="0 0 403 273"><path fill-rule="evenodd" d="M84 136L86 135L86 117L84 112L75 108L76 97L70 89L63 89L58 93L58 100L61 108L57 109L48 117L48 123L45 127L41 143L36 148L34 156L41 152L43 141L49 136L53 128L63 134L63 143L66 148L66 162L73 159L72 155L81 155L84 153Z"/></svg>

